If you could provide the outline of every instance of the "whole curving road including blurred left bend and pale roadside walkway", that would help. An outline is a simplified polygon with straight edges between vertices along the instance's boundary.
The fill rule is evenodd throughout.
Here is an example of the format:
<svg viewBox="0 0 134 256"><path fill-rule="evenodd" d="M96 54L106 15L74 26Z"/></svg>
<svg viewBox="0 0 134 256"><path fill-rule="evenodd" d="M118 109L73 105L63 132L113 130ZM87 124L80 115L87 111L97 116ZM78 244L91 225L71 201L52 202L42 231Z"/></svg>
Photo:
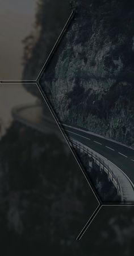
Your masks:
<svg viewBox="0 0 134 256"><path fill-rule="evenodd" d="M56 133L65 143L64 136L59 133L59 128L55 125L55 120L48 113L48 109L46 108L44 112L40 104L19 105L12 109L15 120L45 134ZM62 124L62 127L68 137L105 157L105 164L110 166L122 185L123 201L131 204L134 198L134 150L95 133L65 124Z"/></svg>

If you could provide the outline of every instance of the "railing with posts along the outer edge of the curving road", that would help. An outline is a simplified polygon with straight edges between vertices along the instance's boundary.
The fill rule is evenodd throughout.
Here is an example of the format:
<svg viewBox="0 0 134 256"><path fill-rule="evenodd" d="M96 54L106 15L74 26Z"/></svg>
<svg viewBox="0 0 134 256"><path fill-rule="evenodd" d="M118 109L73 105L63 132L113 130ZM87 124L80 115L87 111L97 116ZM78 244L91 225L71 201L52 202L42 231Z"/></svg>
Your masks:
<svg viewBox="0 0 134 256"><path fill-rule="evenodd" d="M94 159L95 163L97 165L99 165L99 168L104 170L104 172L107 173L108 176L108 180L111 180L112 183L114 184L115 188L117 189L118 195L121 197L121 200L123 202L123 194L122 194L122 188L119 182L118 177L115 175L115 173L113 172L113 170L110 168L110 166L108 164L106 164L106 162L104 162L103 159L101 159L101 157L98 157L93 151L91 151L88 147L86 147L85 145L83 145L82 143L79 143L78 141L70 138L70 145L73 146L76 149L79 149L79 151L87 154L88 156L90 156L92 159Z"/></svg>

